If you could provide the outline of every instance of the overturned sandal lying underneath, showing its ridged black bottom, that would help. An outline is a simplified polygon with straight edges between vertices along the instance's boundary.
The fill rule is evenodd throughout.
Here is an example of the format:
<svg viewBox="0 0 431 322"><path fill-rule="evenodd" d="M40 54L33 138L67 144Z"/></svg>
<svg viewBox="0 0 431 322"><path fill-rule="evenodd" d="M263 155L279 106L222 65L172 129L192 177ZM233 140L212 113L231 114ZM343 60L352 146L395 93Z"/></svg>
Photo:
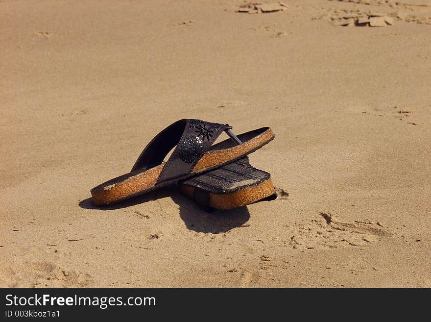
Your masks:
<svg viewBox="0 0 431 322"><path fill-rule="evenodd" d="M277 197L271 175L252 167L248 157L182 181L179 190L207 211L228 210Z"/></svg>

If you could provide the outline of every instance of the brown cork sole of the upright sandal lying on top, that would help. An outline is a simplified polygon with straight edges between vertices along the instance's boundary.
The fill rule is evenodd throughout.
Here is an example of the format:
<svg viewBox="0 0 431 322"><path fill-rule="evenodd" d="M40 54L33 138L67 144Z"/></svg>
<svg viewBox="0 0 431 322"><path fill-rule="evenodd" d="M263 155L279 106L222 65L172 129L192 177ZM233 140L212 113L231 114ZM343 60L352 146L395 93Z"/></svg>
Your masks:
<svg viewBox="0 0 431 322"><path fill-rule="evenodd" d="M253 131L251 131L253 132ZM250 133L251 133L250 132ZM241 136L241 135L239 135ZM166 186L170 183L186 179L198 173L213 170L227 163L238 160L245 155L262 148L265 144L274 139L274 133L267 128L262 133L256 135L248 141L234 147L207 151L194 166L191 173L184 176L156 184L160 173L165 166L165 162L154 168L145 171L134 171L123 174L117 178L106 181L91 190L93 202L96 205L110 204L127 198L138 196L146 192ZM215 147L227 146L229 140L223 141Z"/></svg>

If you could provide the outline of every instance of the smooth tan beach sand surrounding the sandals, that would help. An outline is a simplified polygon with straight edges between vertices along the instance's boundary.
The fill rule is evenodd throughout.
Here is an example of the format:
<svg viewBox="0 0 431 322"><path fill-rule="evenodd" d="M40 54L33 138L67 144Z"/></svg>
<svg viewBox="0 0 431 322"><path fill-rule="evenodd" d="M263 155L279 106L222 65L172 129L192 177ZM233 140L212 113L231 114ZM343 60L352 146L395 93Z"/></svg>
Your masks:
<svg viewBox="0 0 431 322"><path fill-rule="evenodd" d="M284 3L0 1L0 285L430 287L430 1ZM270 126L288 196L94 207L181 118Z"/></svg>

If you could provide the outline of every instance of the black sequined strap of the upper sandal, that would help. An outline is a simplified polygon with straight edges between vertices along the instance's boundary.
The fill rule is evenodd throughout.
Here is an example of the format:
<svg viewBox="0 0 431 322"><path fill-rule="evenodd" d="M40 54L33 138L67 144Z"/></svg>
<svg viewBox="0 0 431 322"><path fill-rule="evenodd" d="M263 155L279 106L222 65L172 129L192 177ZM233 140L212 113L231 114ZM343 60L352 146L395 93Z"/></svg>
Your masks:
<svg viewBox="0 0 431 322"><path fill-rule="evenodd" d="M160 132L142 151L132 168L147 170L160 165L169 151L176 146L163 168L157 183L191 173L202 155L210 149L228 124L201 120L179 120Z"/></svg>

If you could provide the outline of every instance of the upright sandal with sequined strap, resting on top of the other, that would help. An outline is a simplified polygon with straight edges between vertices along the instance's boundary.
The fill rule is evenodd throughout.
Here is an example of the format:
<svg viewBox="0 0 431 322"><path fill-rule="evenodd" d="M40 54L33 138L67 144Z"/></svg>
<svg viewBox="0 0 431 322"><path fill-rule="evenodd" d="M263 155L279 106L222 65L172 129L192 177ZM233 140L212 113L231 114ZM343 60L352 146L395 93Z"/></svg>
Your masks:
<svg viewBox="0 0 431 322"><path fill-rule="evenodd" d="M269 127L235 136L229 124L179 120L154 137L130 173L91 190L96 205L110 204L213 170L262 148L274 139ZM230 139L213 145L221 132ZM174 148L168 161L164 158Z"/></svg>

